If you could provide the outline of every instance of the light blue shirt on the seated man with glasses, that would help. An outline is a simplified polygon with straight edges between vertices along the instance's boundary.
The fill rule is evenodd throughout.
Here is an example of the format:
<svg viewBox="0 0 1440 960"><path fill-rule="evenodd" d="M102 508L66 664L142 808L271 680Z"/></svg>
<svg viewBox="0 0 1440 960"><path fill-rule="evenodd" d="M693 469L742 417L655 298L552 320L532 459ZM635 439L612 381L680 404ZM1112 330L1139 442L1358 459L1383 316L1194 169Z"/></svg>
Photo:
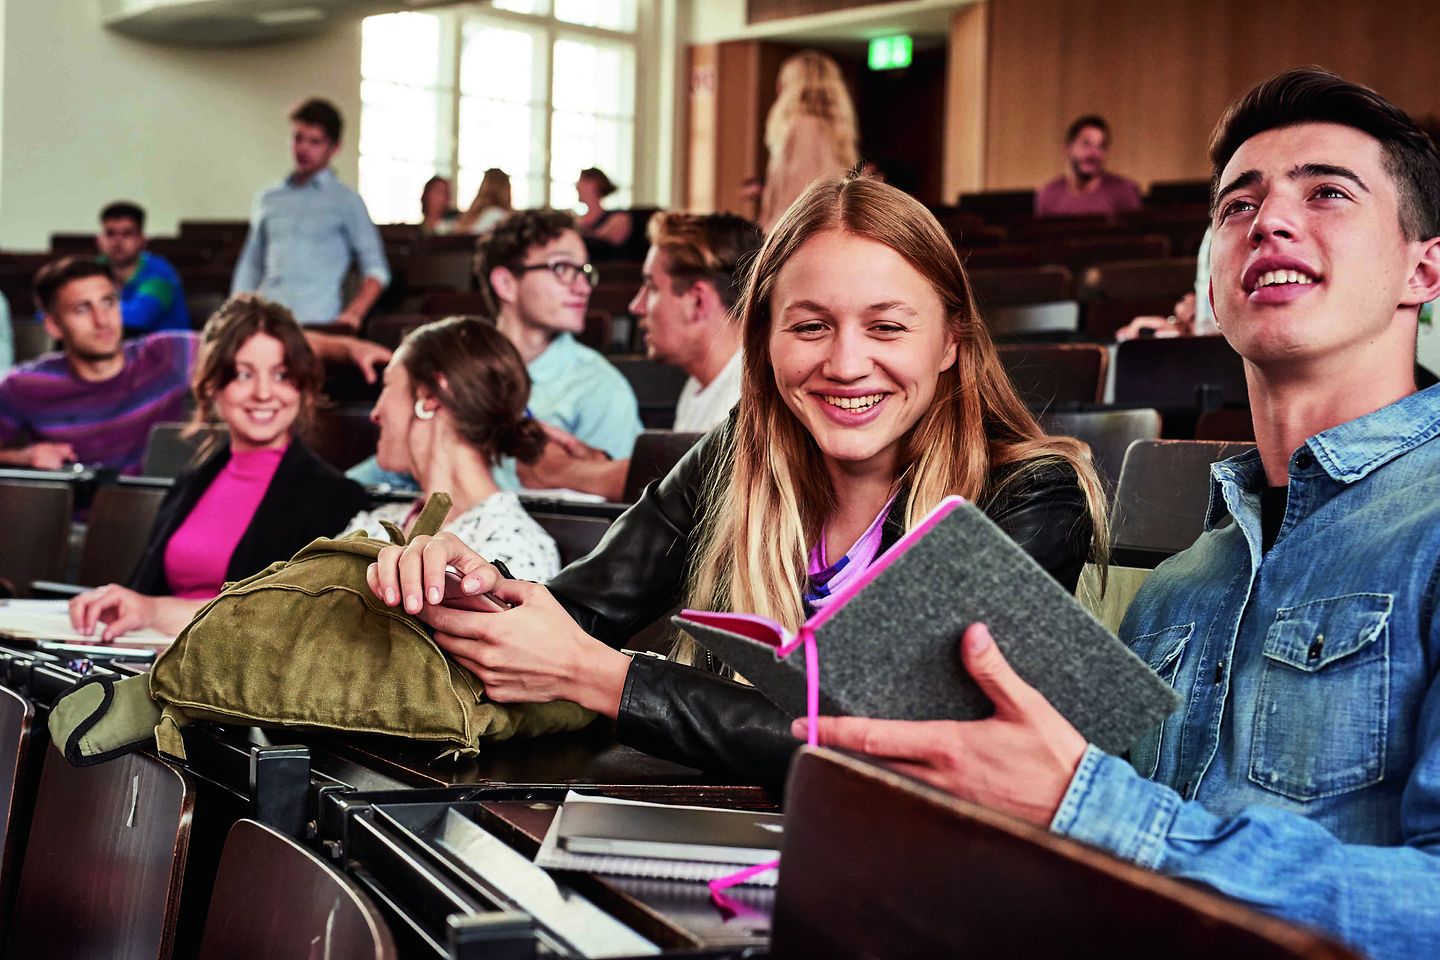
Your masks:
<svg viewBox="0 0 1440 960"><path fill-rule="evenodd" d="M560 427L582 443L625 459L645 427L639 403L625 374L599 351L570 334L556 337L544 353L530 361L530 416ZM500 489L524 489L516 475L516 461L495 465Z"/></svg>

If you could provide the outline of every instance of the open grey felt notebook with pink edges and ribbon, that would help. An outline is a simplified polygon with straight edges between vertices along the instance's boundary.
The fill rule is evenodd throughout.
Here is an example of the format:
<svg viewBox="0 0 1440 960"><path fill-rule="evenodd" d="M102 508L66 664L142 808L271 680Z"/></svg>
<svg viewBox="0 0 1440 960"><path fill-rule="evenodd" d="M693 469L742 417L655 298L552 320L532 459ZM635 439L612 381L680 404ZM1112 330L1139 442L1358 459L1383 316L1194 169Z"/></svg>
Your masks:
<svg viewBox="0 0 1440 960"><path fill-rule="evenodd" d="M1179 697L973 504L948 497L838 590L806 626L819 655L819 711L896 720L978 720L991 702L960 665L971 623L1086 740L1125 753ZM792 717L805 715L795 635L747 613L684 610L674 623Z"/></svg>

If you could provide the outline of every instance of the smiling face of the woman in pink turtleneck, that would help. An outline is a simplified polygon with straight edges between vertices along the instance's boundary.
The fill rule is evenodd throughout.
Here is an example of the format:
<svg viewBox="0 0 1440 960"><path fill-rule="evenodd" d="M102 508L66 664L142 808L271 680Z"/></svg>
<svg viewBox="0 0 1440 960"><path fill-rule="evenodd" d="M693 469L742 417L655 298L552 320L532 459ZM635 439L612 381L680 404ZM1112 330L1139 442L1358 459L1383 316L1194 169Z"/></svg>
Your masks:
<svg viewBox="0 0 1440 960"><path fill-rule="evenodd" d="M253 334L235 353L235 379L215 396L216 413L230 427L236 452L279 449L300 416L300 390L285 368L285 345Z"/></svg>

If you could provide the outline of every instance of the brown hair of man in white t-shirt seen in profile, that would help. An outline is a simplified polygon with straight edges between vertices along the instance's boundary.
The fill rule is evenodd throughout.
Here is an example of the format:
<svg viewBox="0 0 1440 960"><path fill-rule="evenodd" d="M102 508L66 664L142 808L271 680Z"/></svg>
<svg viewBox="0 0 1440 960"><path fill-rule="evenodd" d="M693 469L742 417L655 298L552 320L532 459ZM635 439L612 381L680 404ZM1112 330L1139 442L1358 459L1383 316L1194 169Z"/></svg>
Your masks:
<svg viewBox="0 0 1440 960"><path fill-rule="evenodd" d="M677 294L708 281L726 309L740 299L744 268L765 239L760 227L733 213L671 210L654 214L645 235L665 255L665 272Z"/></svg>

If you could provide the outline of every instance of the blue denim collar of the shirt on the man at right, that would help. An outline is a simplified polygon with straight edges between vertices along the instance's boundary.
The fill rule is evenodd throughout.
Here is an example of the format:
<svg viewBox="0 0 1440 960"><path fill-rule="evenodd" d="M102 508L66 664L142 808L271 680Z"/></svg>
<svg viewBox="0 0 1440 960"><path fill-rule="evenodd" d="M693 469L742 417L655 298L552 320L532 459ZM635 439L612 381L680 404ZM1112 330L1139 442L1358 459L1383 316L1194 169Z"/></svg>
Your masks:
<svg viewBox="0 0 1440 960"><path fill-rule="evenodd" d="M1325 474L1336 484L1365 479L1397 456L1408 453L1440 435L1440 384L1411 393L1391 404L1332 426L1305 442ZM1210 530L1225 515L1223 484L1241 489L1264 486L1264 465L1260 450L1251 449L1212 463L1210 468L1210 508L1205 528Z"/></svg>

